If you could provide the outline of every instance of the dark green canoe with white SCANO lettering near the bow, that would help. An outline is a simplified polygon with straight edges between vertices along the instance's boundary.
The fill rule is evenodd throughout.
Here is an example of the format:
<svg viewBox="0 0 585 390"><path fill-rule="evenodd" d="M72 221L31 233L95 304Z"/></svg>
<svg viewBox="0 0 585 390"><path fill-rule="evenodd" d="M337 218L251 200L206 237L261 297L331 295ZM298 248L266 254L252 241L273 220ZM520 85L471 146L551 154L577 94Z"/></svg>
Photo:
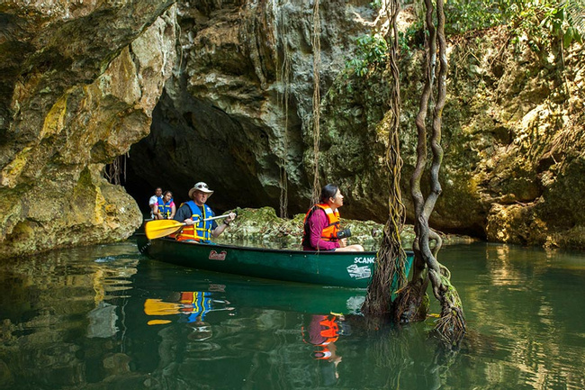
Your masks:
<svg viewBox="0 0 585 390"><path fill-rule="evenodd" d="M374 272L376 252L262 249L202 244L138 235L142 254L179 266L322 286L365 288ZM407 252L407 273L413 253Z"/></svg>

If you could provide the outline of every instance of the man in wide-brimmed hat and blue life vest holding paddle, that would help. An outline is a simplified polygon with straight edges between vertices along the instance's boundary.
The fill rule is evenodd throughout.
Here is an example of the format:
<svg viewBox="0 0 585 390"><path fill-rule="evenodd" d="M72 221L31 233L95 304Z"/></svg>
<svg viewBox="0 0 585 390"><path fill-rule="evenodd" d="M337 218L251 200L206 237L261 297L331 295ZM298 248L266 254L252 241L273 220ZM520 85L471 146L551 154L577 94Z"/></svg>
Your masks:
<svg viewBox="0 0 585 390"><path fill-rule="evenodd" d="M212 194L213 191L203 182L195 184L189 190L191 200L182 204L175 214L175 221L186 223L176 234L176 240L210 242L211 237L219 237L229 223L236 219L236 213L229 213L221 224L216 220L205 221L215 216L211 207L205 204Z"/></svg>

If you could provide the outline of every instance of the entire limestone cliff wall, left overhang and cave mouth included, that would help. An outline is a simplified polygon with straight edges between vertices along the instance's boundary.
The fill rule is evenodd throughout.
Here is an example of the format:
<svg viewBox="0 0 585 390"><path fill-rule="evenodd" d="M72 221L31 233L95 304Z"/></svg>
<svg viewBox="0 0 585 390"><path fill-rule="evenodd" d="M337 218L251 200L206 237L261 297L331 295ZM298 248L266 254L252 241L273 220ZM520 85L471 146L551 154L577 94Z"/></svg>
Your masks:
<svg viewBox="0 0 585 390"><path fill-rule="evenodd" d="M388 83L345 73L377 15L320 5L320 181L342 187L344 217L384 222ZM103 168L129 150L144 202L203 180L219 211L278 209L286 174L289 215L308 207L310 2L9 1L0 17L0 256L128 237L139 208ZM585 247L580 53L539 56L501 30L451 42L437 229ZM421 60L401 59L407 204Z"/></svg>

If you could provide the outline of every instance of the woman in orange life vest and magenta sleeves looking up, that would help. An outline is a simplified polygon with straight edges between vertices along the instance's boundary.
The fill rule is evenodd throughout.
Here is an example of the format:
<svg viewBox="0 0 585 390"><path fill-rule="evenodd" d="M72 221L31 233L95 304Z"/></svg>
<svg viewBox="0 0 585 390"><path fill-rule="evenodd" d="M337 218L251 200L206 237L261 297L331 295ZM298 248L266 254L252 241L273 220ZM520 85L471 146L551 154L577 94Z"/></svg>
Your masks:
<svg viewBox="0 0 585 390"><path fill-rule="evenodd" d="M328 184L321 188L320 204L305 215L302 234L303 250L363 251L359 244L347 245L347 230L340 230L338 208L343 205L339 187Z"/></svg>

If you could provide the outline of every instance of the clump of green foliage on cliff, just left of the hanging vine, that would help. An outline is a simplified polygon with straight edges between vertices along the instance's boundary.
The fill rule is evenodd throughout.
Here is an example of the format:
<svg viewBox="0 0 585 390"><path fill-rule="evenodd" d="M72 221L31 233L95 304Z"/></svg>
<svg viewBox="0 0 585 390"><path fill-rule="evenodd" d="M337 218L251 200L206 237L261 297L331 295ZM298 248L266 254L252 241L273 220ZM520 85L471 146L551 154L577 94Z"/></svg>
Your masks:
<svg viewBox="0 0 585 390"><path fill-rule="evenodd" d="M346 61L346 68L365 77L370 71L383 67L387 56L388 44L381 34L362 35L356 39L356 57Z"/></svg>

